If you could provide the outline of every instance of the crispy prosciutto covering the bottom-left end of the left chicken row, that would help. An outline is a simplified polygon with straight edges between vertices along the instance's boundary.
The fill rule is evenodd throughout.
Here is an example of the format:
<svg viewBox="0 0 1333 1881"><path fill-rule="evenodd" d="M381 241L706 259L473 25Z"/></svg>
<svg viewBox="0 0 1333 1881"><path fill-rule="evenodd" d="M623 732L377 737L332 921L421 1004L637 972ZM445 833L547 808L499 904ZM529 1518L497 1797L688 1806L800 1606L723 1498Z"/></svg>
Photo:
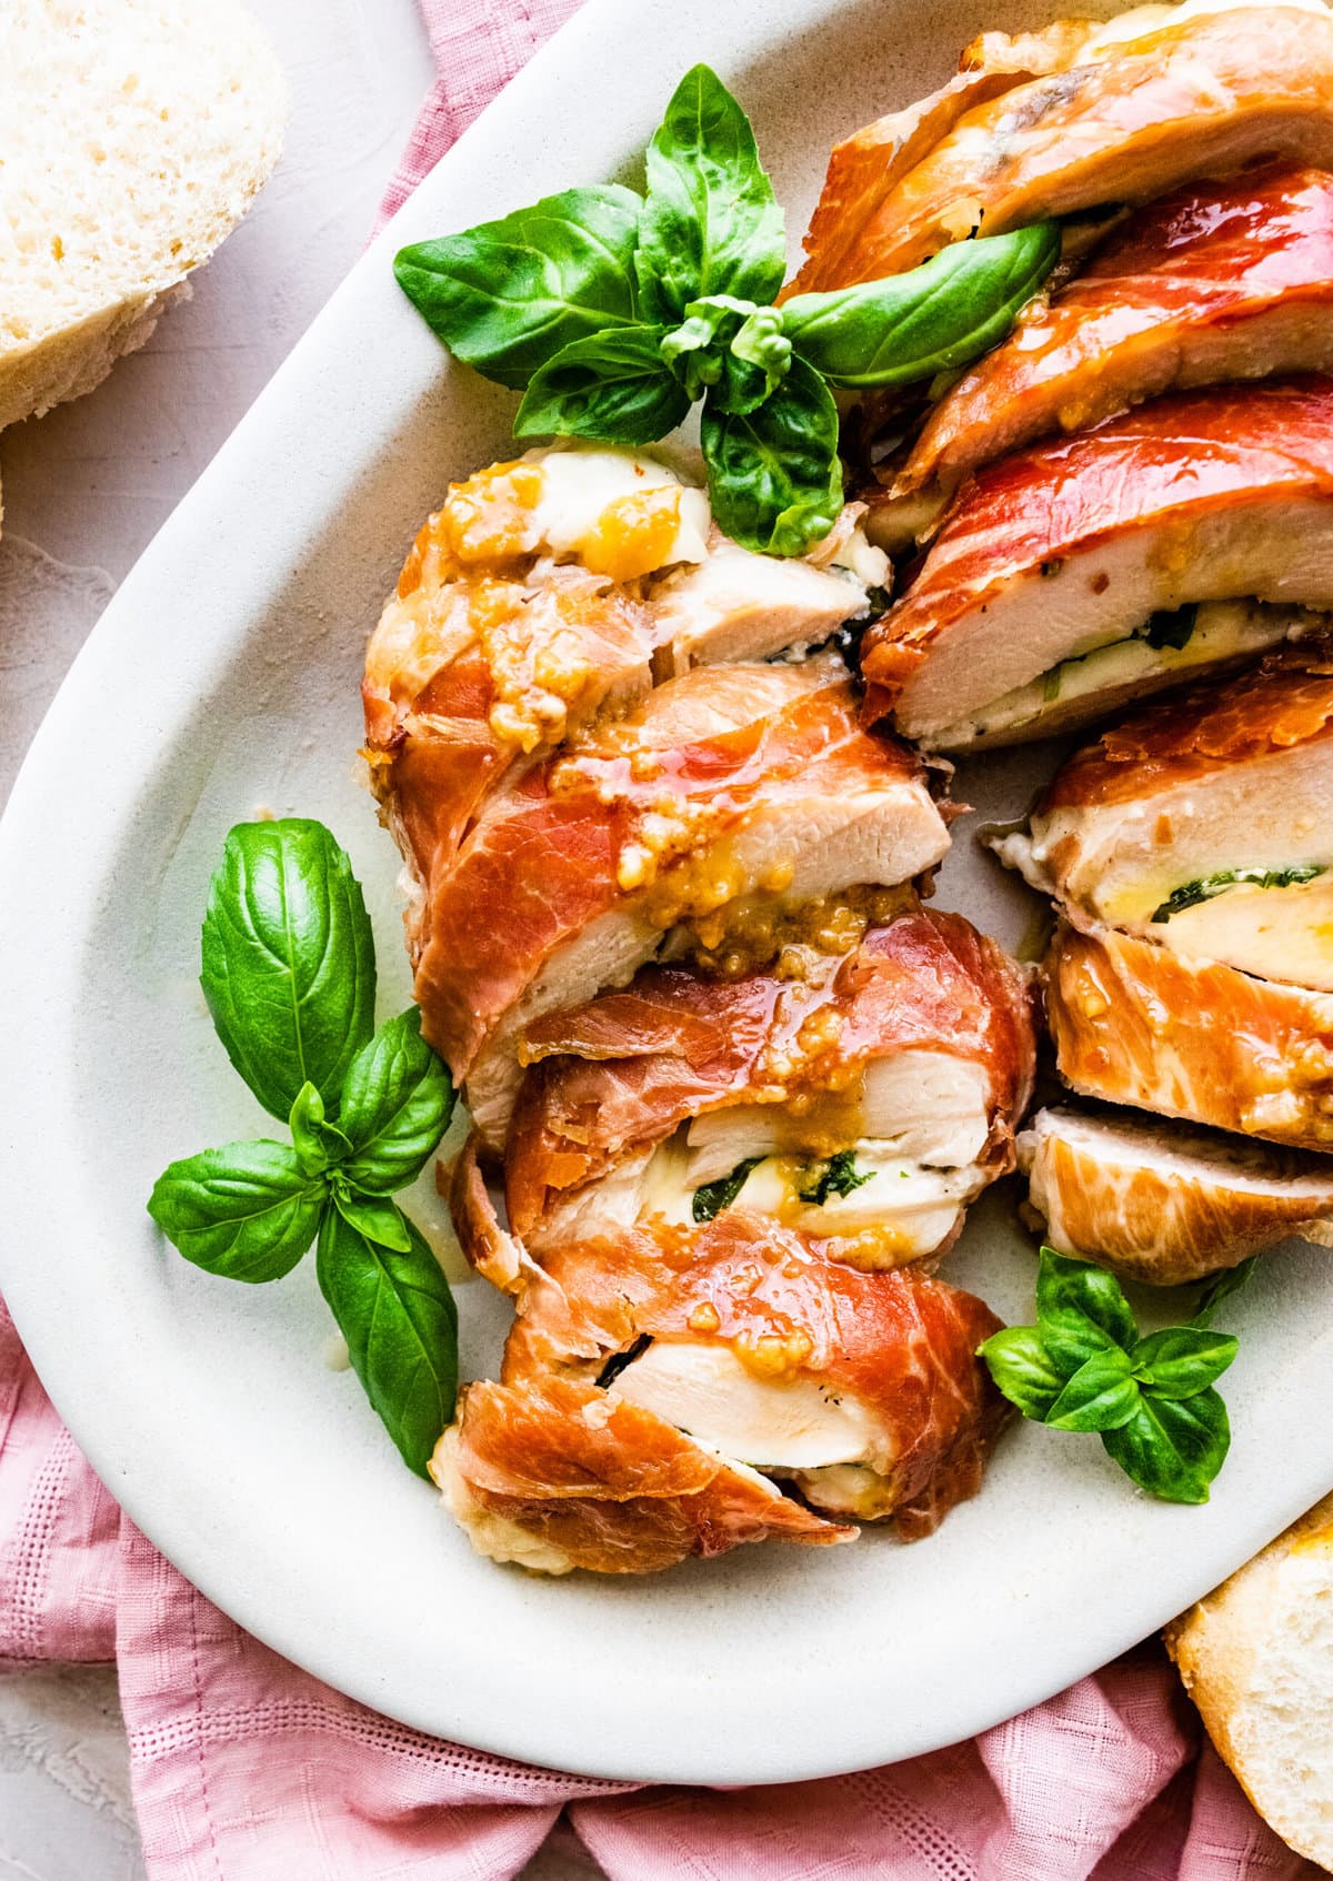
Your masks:
<svg viewBox="0 0 1333 1881"><path fill-rule="evenodd" d="M465 1386L431 1475L478 1554L542 1574L651 1574L742 1542L857 1535L651 1411L570 1379Z"/></svg>

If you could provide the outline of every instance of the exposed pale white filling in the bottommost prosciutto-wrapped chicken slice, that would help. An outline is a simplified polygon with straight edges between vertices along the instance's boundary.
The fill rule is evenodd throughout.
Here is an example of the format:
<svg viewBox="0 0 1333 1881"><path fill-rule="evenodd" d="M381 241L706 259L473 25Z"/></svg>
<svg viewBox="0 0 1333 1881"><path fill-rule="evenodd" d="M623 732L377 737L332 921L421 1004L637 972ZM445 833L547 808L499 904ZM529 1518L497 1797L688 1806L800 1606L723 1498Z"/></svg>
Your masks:
<svg viewBox="0 0 1333 1881"><path fill-rule="evenodd" d="M761 1469L821 1469L860 1462L872 1443L860 1403L815 1379L757 1379L725 1345L655 1339L627 1366L610 1398L623 1398L727 1458Z"/></svg>

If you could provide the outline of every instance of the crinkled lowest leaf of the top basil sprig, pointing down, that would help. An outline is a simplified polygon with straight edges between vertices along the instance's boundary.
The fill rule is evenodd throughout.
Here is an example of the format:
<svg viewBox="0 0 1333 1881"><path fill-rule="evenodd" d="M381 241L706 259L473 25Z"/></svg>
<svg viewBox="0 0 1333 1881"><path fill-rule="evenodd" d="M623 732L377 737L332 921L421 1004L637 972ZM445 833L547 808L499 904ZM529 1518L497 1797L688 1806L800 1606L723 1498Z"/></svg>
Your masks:
<svg viewBox="0 0 1333 1881"><path fill-rule="evenodd" d="M725 412L710 391L700 421L714 521L746 549L804 555L842 510L838 406L813 367L791 361L755 412Z"/></svg>

